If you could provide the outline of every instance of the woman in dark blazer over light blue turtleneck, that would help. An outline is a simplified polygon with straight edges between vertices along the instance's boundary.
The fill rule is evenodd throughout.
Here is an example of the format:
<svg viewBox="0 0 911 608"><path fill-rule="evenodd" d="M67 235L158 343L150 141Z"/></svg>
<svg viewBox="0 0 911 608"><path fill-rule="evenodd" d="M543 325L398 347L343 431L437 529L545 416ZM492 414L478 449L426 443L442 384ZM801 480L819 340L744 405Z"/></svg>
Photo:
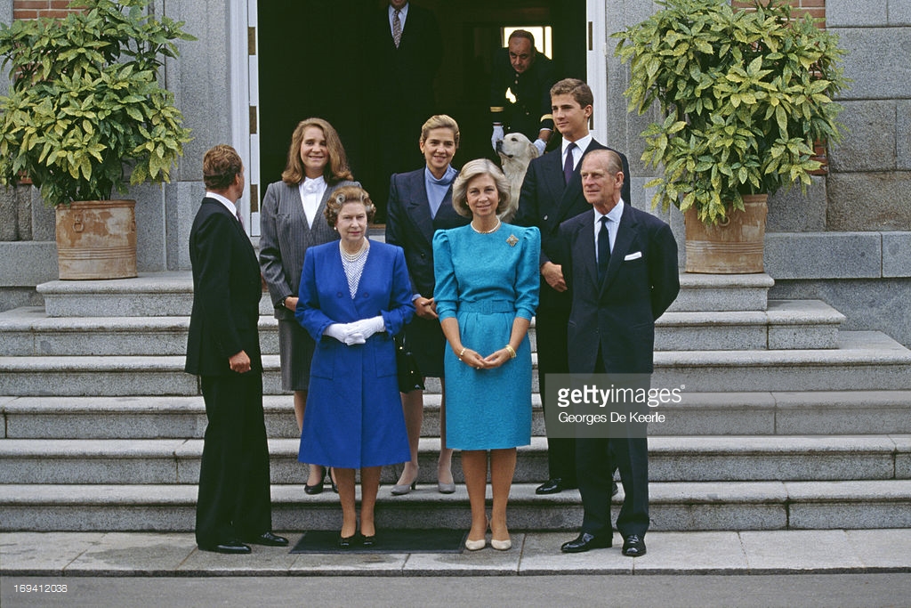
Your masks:
<svg viewBox="0 0 911 608"><path fill-rule="evenodd" d="M415 318L405 326L405 342L415 353L422 376L440 378L443 383L445 338L440 331L434 300L434 232L464 226L467 218L452 205L452 182L458 171L451 164L458 149L459 131L454 119L445 114L430 117L421 128L419 140L426 166L393 175L389 186L386 242L404 249L412 290L415 292ZM411 460L392 489L394 495L407 494L417 479L417 448L424 419L424 393L414 390L402 394ZM453 450L445 442L445 398L440 402L440 456L436 464L437 489L455 492L452 474Z"/></svg>

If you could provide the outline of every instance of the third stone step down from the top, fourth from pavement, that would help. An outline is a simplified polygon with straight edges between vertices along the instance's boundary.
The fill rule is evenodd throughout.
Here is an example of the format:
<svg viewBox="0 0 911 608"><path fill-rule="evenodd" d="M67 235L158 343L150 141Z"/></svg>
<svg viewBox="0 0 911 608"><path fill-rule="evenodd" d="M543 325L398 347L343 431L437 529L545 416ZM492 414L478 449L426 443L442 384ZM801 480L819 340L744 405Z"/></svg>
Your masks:
<svg viewBox="0 0 911 608"><path fill-rule="evenodd" d="M911 351L881 332L840 332L838 348L656 352L651 386L690 392L906 390ZM537 356L533 354L533 363ZM0 356L0 395L199 395L183 356ZM281 394L279 357L263 356L263 391ZM439 392L435 378L430 392ZM537 368L532 391L537 391Z"/></svg>

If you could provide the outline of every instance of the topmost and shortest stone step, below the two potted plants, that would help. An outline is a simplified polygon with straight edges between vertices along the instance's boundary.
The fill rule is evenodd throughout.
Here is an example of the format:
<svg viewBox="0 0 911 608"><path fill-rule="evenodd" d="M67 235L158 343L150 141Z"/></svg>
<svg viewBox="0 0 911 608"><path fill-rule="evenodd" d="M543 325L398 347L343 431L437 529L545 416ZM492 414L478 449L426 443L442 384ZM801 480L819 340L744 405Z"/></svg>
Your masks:
<svg viewBox="0 0 911 608"><path fill-rule="evenodd" d="M673 312L764 311L771 276L681 273ZM193 277L189 271L139 273L114 281L50 281L36 287L50 316L189 316ZM262 314L271 314L264 297Z"/></svg>

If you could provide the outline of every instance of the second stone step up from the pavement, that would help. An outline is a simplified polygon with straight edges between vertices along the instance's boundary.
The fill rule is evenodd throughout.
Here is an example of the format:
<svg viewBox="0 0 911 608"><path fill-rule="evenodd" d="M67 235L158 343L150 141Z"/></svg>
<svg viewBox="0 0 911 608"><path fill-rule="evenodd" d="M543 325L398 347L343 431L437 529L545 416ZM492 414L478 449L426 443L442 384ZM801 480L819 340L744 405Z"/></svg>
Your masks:
<svg viewBox="0 0 911 608"><path fill-rule="evenodd" d="M911 479L911 436L652 437L652 481ZM184 484L200 479L201 439L4 439L0 484ZM439 439L423 438L422 483L436 482ZM302 483L297 439L271 439L271 482ZM457 457L456 457L457 460ZM460 467L454 466L457 482ZM384 469L384 482L398 479ZM548 477L547 441L518 449L517 483Z"/></svg>

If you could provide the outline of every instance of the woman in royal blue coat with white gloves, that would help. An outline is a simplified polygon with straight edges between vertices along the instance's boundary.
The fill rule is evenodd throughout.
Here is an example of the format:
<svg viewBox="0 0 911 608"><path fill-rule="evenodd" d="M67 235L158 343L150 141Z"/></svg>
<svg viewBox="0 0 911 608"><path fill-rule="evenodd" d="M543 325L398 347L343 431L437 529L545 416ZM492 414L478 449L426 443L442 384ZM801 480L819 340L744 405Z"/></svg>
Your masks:
<svg viewBox="0 0 911 608"><path fill-rule="evenodd" d="M295 311L316 341L298 459L333 467L343 548L357 532L354 469L361 469L363 545L372 546L380 471L411 458L392 336L415 306L402 249L367 239L374 212L361 188L333 192L325 217L341 240L307 250Z"/></svg>

